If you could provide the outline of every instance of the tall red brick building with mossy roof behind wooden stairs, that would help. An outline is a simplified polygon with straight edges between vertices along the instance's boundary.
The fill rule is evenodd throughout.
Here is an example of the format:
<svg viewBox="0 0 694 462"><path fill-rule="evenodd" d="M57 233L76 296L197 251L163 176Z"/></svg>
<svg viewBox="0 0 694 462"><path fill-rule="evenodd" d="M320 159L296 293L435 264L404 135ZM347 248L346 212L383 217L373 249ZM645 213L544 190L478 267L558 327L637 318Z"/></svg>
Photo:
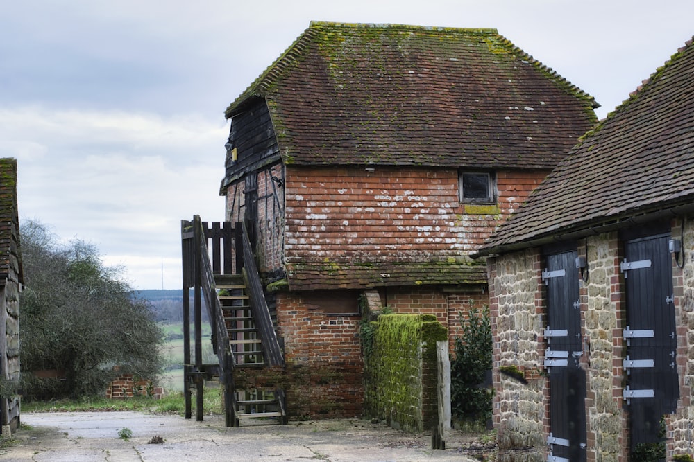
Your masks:
<svg viewBox="0 0 694 462"><path fill-rule="evenodd" d="M287 364L332 371L314 402L359 412L360 300L459 333L488 301L470 255L593 107L493 29L320 22L231 103L226 220L248 226Z"/></svg>

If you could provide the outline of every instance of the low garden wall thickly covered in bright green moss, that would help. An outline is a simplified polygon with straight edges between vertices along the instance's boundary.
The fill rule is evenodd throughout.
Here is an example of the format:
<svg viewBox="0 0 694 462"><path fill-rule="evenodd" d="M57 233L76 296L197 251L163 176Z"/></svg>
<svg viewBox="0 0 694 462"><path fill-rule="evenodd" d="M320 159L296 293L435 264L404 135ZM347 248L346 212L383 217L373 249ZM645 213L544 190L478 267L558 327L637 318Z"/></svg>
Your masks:
<svg viewBox="0 0 694 462"><path fill-rule="evenodd" d="M364 411L421 432L437 421L436 342L448 331L432 314L383 314L364 326Z"/></svg>

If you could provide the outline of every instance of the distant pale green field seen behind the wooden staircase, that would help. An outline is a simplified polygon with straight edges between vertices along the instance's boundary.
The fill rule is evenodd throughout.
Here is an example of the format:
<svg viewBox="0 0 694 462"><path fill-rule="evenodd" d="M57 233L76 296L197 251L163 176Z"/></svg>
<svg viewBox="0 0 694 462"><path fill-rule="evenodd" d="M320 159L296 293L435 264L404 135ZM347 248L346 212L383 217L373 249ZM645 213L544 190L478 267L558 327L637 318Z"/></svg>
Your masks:
<svg viewBox="0 0 694 462"><path fill-rule="evenodd" d="M183 390L183 323L162 324L164 331L164 372L160 382L164 389L181 391ZM194 332L194 326L190 326L190 331ZM203 362L217 362L217 357L212 353L210 343L210 326L203 324ZM175 338L180 337L180 338ZM191 348L194 348L194 339L191 338ZM194 353L191 352L191 357Z"/></svg>

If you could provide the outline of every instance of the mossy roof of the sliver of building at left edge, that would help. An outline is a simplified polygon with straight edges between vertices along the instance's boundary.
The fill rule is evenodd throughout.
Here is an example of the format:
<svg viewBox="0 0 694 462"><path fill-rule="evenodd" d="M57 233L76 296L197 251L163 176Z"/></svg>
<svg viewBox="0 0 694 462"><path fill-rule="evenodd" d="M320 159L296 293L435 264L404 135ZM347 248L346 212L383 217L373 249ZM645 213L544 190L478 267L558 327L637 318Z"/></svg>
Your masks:
<svg viewBox="0 0 694 462"><path fill-rule="evenodd" d="M18 265L17 276L19 282L22 282L17 213L17 161L2 158L0 159L0 284L6 283L12 265Z"/></svg>

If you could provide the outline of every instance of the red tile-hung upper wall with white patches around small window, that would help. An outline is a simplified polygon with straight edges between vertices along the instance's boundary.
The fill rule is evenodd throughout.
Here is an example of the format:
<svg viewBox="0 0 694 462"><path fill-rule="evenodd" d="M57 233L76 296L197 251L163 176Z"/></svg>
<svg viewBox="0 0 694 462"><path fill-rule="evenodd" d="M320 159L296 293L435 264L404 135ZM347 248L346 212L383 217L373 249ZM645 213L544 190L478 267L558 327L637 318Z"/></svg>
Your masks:
<svg viewBox="0 0 694 462"><path fill-rule="evenodd" d="M458 202L455 170L287 166L287 256L470 254L546 172L498 172L498 206Z"/></svg>

